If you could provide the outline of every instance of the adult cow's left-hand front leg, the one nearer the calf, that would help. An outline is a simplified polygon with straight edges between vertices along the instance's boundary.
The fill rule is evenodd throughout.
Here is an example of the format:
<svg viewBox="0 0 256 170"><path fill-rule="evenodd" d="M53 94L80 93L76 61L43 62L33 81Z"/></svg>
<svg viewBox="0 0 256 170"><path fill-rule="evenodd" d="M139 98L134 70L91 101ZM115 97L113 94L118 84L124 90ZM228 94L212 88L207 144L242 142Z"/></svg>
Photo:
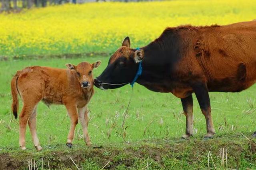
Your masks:
<svg viewBox="0 0 256 170"><path fill-rule="evenodd" d="M181 99L184 115L186 116L186 134L182 138L193 136L193 98L192 94Z"/></svg>

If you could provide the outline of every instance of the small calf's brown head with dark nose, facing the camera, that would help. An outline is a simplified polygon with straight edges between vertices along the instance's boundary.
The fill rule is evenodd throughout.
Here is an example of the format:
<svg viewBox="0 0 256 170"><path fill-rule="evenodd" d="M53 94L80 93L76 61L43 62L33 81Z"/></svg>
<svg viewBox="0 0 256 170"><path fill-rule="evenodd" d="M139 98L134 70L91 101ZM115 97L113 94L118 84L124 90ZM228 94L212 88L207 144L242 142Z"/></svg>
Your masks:
<svg viewBox="0 0 256 170"><path fill-rule="evenodd" d="M82 88L91 87L94 84L94 79L92 76L92 70L100 65L101 61L96 61L93 64L82 62L78 65L67 63L66 66L70 70L76 71L76 77L81 84Z"/></svg>

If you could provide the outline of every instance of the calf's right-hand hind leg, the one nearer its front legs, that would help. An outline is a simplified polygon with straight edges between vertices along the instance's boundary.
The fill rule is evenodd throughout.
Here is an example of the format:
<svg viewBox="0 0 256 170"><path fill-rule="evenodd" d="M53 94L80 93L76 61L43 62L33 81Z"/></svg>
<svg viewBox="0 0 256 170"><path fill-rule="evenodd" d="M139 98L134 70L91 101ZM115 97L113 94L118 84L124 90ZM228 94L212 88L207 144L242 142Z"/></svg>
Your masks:
<svg viewBox="0 0 256 170"><path fill-rule="evenodd" d="M36 134L36 110L37 107L35 107L32 115L30 116L29 120L28 120L28 126L30 128L30 133L32 136L32 140L34 142L34 146L36 148L36 150L40 151L42 150L42 147L40 146L37 134Z"/></svg>

